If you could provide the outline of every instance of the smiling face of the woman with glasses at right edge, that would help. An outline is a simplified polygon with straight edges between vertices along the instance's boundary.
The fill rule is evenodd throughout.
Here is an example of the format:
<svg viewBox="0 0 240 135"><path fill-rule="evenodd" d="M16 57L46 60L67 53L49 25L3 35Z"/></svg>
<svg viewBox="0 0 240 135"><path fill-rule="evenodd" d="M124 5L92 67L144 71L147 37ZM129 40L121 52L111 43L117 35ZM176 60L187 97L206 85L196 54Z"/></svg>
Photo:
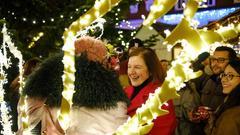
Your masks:
<svg viewBox="0 0 240 135"><path fill-rule="evenodd" d="M230 65L220 77L224 94L229 94L240 83L240 75Z"/></svg>

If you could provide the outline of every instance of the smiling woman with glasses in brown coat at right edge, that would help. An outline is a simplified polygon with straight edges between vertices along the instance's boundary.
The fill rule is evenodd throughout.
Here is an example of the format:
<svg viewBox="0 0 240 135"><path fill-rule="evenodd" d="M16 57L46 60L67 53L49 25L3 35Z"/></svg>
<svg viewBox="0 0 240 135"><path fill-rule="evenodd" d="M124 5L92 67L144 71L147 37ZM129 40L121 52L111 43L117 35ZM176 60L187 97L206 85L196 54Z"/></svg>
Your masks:
<svg viewBox="0 0 240 135"><path fill-rule="evenodd" d="M230 61L220 78L227 96L216 110L211 135L240 135L240 60Z"/></svg>

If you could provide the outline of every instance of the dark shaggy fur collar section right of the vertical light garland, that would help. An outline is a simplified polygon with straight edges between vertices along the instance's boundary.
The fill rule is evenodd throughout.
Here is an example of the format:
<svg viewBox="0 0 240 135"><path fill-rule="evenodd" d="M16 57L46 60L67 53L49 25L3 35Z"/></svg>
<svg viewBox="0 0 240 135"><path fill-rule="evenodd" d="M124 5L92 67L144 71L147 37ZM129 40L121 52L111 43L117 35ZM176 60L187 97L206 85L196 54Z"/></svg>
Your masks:
<svg viewBox="0 0 240 135"><path fill-rule="evenodd" d="M73 106L109 109L119 101L129 105L116 72L84 55L76 61L76 67Z"/></svg>

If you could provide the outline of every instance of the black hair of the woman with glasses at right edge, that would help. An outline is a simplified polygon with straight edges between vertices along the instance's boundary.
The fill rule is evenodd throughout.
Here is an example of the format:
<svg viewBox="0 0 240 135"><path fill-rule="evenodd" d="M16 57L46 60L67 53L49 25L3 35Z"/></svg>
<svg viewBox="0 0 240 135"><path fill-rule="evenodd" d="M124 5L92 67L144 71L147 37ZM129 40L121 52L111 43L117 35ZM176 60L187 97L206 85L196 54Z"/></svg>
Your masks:
<svg viewBox="0 0 240 135"><path fill-rule="evenodd" d="M240 74L240 60L234 59L229 61L228 65L230 65L235 71ZM219 117L225 110L232 108L234 106L240 105L240 84L237 85L229 94L227 101L220 106L218 111L216 112L216 117Z"/></svg>

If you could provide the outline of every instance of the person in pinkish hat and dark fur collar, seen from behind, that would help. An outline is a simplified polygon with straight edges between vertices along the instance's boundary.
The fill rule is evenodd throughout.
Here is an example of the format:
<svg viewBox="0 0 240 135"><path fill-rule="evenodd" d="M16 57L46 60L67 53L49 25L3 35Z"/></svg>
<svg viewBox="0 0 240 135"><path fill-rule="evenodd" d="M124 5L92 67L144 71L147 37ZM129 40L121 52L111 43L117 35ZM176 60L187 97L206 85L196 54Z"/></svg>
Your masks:
<svg viewBox="0 0 240 135"><path fill-rule="evenodd" d="M70 126L64 133L57 120L63 90L63 54L58 54L42 63L23 90L30 105L27 113L32 132L46 135L111 134L128 118L129 101L116 73L107 68L105 44L92 37L82 37L75 46L76 79ZM21 128L19 131L21 133Z"/></svg>

